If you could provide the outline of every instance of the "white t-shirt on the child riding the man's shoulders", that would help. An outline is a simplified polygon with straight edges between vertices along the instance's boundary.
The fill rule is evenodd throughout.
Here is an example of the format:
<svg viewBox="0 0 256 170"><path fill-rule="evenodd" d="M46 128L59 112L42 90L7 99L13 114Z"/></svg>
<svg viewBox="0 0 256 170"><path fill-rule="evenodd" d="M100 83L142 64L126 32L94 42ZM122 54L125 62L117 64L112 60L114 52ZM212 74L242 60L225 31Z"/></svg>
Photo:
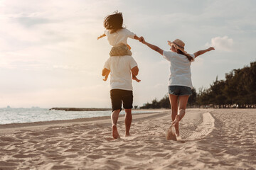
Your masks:
<svg viewBox="0 0 256 170"><path fill-rule="evenodd" d="M105 30L105 35L107 35L107 40L113 47L117 47L119 45L127 45L127 38L134 39L136 34L127 30L127 28L122 28L117 30L115 33L110 33L110 30Z"/></svg>

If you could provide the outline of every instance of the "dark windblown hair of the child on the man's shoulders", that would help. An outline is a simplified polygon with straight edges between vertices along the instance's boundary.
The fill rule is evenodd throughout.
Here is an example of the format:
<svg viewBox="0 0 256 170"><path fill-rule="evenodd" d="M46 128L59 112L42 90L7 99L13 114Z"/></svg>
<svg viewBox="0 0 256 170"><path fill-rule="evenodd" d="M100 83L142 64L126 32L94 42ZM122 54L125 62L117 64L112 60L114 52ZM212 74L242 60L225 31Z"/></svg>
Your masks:
<svg viewBox="0 0 256 170"><path fill-rule="evenodd" d="M107 30L110 30L110 33L115 33L117 30L122 29L123 18L122 13L118 11L114 12L114 14L106 16L104 20L104 27Z"/></svg>

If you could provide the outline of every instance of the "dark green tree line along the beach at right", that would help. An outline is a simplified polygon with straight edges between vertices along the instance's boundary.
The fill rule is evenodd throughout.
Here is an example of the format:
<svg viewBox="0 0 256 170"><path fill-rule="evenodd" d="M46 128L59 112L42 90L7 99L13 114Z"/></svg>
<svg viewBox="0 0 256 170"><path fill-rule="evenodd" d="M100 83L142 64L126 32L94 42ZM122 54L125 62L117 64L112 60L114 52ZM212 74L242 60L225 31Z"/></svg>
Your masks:
<svg viewBox="0 0 256 170"><path fill-rule="evenodd" d="M192 89L188 108L256 108L256 62L225 74L225 80L216 77L210 88ZM140 108L171 108L169 95L146 103Z"/></svg>

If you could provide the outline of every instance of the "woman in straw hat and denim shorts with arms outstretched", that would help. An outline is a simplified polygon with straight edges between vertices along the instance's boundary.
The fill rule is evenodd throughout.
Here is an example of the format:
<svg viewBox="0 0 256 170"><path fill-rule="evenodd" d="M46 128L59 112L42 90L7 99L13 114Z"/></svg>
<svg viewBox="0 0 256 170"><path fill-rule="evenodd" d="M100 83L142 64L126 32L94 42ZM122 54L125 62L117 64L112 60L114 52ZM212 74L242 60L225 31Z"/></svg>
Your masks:
<svg viewBox="0 0 256 170"><path fill-rule="evenodd" d="M209 47L206 50L200 50L193 54L188 54L184 50L185 43L179 39L176 39L173 42L168 41L168 44L171 46L171 51L164 51L145 40L142 42L152 50L159 52L160 55L163 55L164 58L171 63L168 91L171 103L172 123L171 127L166 132L166 139L176 140L176 137L179 137L178 123L186 113L188 97L192 94L191 62L193 62L193 60L195 60L199 55L203 55L205 52L215 49L214 47Z"/></svg>

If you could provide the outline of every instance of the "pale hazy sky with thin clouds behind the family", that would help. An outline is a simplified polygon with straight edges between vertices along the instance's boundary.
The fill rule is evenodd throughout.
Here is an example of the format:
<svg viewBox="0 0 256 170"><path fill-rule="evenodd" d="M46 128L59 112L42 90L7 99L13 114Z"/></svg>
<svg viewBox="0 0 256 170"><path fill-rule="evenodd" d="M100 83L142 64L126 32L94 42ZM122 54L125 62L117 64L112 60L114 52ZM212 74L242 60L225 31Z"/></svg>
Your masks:
<svg viewBox="0 0 256 170"><path fill-rule="evenodd" d="M127 29L163 50L176 38L188 53L215 47L191 64L197 91L255 62L255 0L0 0L0 107L110 108L101 72L111 47L97 37L117 10ZM169 62L137 40L128 44L142 80L133 81L134 106L160 100Z"/></svg>

